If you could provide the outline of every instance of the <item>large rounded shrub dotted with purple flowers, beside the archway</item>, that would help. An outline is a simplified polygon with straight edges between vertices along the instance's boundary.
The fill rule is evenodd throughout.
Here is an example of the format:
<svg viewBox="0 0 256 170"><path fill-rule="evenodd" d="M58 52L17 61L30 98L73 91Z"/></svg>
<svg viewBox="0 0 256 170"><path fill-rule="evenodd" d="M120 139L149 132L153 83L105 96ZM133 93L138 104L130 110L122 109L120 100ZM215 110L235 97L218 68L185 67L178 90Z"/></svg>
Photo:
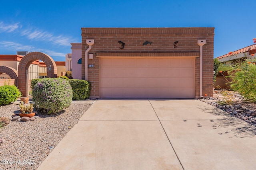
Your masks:
<svg viewBox="0 0 256 170"><path fill-rule="evenodd" d="M67 80L63 78L43 78L35 84L32 96L37 109L51 114L69 107L73 94Z"/></svg>

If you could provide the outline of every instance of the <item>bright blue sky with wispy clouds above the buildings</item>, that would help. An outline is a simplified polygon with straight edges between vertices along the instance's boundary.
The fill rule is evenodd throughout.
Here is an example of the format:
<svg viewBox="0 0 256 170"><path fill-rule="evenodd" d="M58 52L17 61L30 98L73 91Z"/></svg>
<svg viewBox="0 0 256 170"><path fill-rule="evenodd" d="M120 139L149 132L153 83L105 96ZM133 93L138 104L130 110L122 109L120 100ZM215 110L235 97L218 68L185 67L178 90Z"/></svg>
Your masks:
<svg viewBox="0 0 256 170"><path fill-rule="evenodd" d="M253 44L255 0L9 0L0 5L0 54L40 51L55 61L81 27L215 27L214 58Z"/></svg>

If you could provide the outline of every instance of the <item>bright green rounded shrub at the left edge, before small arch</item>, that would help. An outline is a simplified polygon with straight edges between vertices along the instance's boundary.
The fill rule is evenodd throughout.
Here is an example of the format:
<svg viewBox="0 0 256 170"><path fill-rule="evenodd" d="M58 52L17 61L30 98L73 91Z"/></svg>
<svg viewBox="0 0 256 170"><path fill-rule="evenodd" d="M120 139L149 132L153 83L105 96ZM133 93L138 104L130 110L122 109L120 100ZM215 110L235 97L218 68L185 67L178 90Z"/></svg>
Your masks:
<svg viewBox="0 0 256 170"><path fill-rule="evenodd" d="M11 102L15 102L20 95L20 91L14 85L0 86L0 105L7 105Z"/></svg>

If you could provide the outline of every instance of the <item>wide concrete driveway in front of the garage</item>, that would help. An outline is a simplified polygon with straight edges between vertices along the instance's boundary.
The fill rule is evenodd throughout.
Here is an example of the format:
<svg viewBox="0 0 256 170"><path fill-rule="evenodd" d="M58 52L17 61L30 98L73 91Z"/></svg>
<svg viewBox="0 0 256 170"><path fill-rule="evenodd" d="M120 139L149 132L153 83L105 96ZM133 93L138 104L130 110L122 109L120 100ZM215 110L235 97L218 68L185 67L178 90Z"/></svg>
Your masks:
<svg viewBox="0 0 256 170"><path fill-rule="evenodd" d="M198 100L98 100L38 170L252 170L255 134Z"/></svg>

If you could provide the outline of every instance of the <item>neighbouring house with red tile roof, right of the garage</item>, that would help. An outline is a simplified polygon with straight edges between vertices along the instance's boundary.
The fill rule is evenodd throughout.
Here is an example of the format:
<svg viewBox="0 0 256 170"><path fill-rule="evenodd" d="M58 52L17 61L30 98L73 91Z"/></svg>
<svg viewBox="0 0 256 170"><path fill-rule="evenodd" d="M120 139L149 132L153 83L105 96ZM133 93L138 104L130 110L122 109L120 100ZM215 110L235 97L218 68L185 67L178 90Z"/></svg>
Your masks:
<svg viewBox="0 0 256 170"><path fill-rule="evenodd" d="M255 59L255 53L256 44L222 55L220 57L217 57L217 59L223 64L232 64L245 61L246 59ZM231 82L232 80L228 76L229 75L227 72L219 73L216 76L216 81L214 82L214 87L216 90L230 90L230 86L227 83Z"/></svg>

